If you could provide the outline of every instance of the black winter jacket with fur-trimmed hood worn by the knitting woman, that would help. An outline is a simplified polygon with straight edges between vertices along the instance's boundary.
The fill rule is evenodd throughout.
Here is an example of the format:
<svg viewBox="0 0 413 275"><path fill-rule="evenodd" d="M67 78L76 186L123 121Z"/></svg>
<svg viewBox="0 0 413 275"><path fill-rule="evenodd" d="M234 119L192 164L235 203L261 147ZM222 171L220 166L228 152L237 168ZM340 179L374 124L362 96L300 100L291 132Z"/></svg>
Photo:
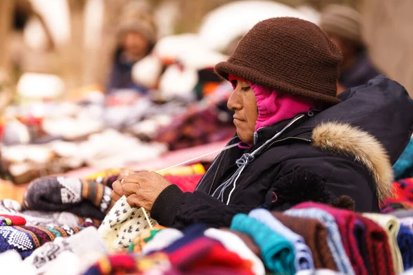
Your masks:
<svg viewBox="0 0 413 275"><path fill-rule="evenodd" d="M377 212L379 201L392 195L392 164L412 135L413 100L385 76L339 97L343 102L319 113L310 111L287 129L291 120L260 129L248 150L223 151L195 192L182 192L173 185L165 188L151 216L173 228L196 222L222 227L229 226L237 212L259 206L285 210L301 201L330 203L342 195L354 200L357 211ZM262 146L277 133L274 141ZM235 135L229 144L238 142ZM226 188L222 199L213 197L218 186L234 175L237 159L260 147L235 187Z"/></svg>

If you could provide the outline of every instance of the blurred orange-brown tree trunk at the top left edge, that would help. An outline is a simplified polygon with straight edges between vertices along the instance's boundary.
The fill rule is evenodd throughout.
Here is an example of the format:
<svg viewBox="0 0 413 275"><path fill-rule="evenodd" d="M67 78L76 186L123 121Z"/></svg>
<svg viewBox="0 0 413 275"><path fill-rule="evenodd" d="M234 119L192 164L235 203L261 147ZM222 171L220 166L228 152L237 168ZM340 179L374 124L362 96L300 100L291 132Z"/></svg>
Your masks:
<svg viewBox="0 0 413 275"><path fill-rule="evenodd" d="M0 68L8 67L7 49L12 27L13 11L13 0L0 1Z"/></svg>

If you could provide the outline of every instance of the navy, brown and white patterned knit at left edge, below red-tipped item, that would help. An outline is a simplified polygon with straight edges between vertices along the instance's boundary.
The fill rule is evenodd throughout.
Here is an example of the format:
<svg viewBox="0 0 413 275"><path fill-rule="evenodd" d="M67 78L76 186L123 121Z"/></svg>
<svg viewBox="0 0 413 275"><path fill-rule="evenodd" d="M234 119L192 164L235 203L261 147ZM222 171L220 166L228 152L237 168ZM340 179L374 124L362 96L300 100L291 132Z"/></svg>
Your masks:
<svg viewBox="0 0 413 275"><path fill-rule="evenodd" d="M54 227L41 226L1 226L0 227L0 252L16 250L25 259L36 248L44 243L53 241L57 236L72 236L92 223L85 223L80 227Z"/></svg>

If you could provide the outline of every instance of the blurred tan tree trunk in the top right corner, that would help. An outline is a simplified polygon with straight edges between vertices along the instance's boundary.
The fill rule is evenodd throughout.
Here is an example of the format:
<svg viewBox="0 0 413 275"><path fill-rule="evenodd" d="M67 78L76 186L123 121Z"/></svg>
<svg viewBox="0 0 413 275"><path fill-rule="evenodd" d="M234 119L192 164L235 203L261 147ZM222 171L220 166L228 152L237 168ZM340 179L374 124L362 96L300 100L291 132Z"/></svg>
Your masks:
<svg viewBox="0 0 413 275"><path fill-rule="evenodd" d="M363 36L372 61L413 97L413 1L364 0Z"/></svg>

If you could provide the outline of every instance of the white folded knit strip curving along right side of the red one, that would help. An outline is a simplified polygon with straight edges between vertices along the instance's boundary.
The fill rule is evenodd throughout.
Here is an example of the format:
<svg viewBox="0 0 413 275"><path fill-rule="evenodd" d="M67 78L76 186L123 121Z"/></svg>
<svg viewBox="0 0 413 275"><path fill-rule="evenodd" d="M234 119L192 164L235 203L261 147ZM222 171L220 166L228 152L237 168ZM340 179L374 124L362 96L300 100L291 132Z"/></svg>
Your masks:
<svg viewBox="0 0 413 275"><path fill-rule="evenodd" d="M254 274L265 274L265 267L260 258L257 257L246 244L240 239L239 236L223 230L218 230L215 228L209 228L204 232L205 236L211 239L220 241L224 247L238 254L242 259L251 261L253 263Z"/></svg>

